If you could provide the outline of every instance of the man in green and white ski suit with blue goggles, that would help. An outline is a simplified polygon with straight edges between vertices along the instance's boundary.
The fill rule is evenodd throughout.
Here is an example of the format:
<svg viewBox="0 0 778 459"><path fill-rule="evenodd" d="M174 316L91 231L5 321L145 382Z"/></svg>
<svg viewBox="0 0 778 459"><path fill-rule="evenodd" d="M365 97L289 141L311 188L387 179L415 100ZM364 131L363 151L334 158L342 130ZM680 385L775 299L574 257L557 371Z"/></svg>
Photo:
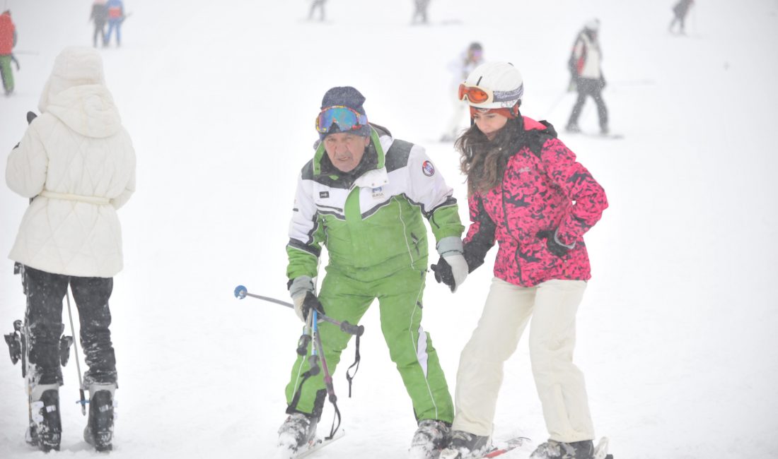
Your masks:
<svg viewBox="0 0 778 459"><path fill-rule="evenodd" d="M453 191L424 149L369 124L364 102L350 86L324 94L317 116L321 143L298 177L289 226L289 294L303 321L315 308L352 324L378 299L381 331L418 423L411 457L430 457L447 442L454 410L436 349L421 325L428 256L422 216L457 285L467 276L464 226ZM312 279L322 245L329 264L316 297ZM326 322L319 328L334 370L350 336ZM322 374L301 384L309 367L307 356L293 365L279 447L297 450L316 433L327 392Z"/></svg>

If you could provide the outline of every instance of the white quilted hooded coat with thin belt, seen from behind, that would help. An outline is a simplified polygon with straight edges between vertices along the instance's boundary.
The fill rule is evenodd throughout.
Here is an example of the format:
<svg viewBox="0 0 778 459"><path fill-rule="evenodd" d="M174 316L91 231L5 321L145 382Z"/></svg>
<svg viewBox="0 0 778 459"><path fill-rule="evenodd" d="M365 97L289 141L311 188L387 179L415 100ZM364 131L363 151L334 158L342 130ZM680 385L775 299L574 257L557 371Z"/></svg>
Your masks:
<svg viewBox="0 0 778 459"><path fill-rule="evenodd" d="M100 55L66 48L38 108L5 169L11 190L36 196L9 258L49 273L113 277L122 268L116 210L135 191L135 151Z"/></svg>

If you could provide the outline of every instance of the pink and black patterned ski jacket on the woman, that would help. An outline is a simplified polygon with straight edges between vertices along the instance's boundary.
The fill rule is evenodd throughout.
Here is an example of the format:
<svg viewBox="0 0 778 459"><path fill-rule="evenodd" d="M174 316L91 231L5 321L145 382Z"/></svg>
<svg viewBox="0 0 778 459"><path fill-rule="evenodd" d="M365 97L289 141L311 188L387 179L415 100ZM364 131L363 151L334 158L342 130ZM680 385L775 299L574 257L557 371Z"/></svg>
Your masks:
<svg viewBox="0 0 778 459"><path fill-rule="evenodd" d="M471 225L464 256L473 271L494 242L499 252L494 275L532 287L552 279L588 280L591 267L584 233L608 207L605 190L573 151L556 138L554 128L524 116L525 136L508 160L503 183L468 199ZM548 251L538 231L556 231L564 256Z"/></svg>

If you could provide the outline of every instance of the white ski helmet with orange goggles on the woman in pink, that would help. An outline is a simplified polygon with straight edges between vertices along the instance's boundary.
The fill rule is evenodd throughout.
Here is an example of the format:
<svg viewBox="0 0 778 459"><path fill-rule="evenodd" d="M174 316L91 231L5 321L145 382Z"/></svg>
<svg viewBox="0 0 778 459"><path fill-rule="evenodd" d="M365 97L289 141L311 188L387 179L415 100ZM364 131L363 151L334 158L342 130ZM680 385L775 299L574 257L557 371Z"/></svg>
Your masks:
<svg viewBox="0 0 778 459"><path fill-rule="evenodd" d="M479 109L511 108L523 96L524 79L510 62L478 65L459 88L459 99Z"/></svg>

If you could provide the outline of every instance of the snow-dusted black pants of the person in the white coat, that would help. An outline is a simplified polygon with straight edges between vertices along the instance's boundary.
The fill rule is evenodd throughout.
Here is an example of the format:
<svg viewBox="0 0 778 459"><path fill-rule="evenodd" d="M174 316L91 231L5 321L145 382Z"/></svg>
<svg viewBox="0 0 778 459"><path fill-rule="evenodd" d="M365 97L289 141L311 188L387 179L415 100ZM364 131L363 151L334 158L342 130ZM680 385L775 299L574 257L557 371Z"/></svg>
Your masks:
<svg viewBox="0 0 778 459"><path fill-rule="evenodd" d="M62 384L59 339L65 330L62 301L68 283L79 310L81 346L89 367L84 374L84 387L93 383L116 383L116 357L108 329L108 299L114 289L113 278L63 276L25 266L23 283L27 297L25 319L30 371L37 384Z"/></svg>

